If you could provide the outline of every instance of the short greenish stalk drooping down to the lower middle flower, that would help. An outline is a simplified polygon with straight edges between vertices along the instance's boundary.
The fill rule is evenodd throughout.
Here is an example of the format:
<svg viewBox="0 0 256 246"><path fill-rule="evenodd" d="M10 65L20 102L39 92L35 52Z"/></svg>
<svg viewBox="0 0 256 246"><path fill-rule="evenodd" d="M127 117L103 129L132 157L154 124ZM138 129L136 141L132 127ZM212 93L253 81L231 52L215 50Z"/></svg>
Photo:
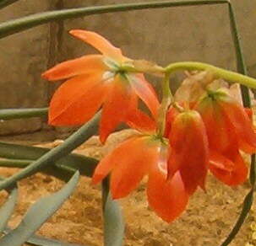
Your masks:
<svg viewBox="0 0 256 246"><path fill-rule="evenodd" d="M172 103L173 96L169 85L170 73L166 72L165 78L161 83L162 101L157 117L157 135L163 136L166 130L166 113Z"/></svg>

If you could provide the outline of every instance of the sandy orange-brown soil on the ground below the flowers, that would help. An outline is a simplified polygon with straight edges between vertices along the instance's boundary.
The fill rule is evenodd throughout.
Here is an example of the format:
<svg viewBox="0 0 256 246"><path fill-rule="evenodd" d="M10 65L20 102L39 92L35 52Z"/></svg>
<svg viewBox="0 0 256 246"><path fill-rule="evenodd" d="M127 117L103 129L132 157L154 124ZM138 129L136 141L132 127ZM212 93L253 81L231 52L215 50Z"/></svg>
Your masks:
<svg viewBox="0 0 256 246"><path fill-rule="evenodd" d="M92 137L75 152L94 158L102 158L106 152L133 132L126 130L112 134L105 146L98 137ZM41 144L42 147L55 147L62 141ZM17 168L0 168L0 174L9 176L19 171ZM46 174L35 174L19 182L19 204L9 222L10 227L19 224L25 211L40 197L59 190L63 182ZM248 193L249 184L230 188L221 184L209 174L207 191L198 190L189 201L182 216L168 224L157 217L148 206L145 195L146 180L137 190L120 201L126 221L126 246L217 246L226 238L241 211L242 201ZM0 203L7 194L0 193ZM256 206L237 234L231 246L256 245L255 233ZM61 209L38 231L38 234L62 240L100 246L102 243L101 186L90 184L90 179L81 177L79 185ZM27 244L25 244L27 245Z"/></svg>

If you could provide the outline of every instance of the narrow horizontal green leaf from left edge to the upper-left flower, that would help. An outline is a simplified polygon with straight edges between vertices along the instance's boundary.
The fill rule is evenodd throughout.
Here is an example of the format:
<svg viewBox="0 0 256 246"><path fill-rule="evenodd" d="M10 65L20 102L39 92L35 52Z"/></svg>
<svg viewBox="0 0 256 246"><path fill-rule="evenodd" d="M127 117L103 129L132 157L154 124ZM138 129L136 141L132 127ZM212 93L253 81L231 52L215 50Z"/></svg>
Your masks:
<svg viewBox="0 0 256 246"><path fill-rule="evenodd" d="M14 120L47 116L48 108L0 110L0 120Z"/></svg>

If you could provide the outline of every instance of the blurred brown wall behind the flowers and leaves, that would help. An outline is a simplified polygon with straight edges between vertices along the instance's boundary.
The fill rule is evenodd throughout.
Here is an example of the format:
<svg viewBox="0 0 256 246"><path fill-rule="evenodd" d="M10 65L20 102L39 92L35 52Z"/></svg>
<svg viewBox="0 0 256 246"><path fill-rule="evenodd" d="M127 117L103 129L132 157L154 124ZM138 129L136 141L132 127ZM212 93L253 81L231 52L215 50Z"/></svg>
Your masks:
<svg viewBox="0 0 256 246"><path fill-rule="evenodd" d="M1 10L0 22L61 8L135 0L20 0ZM255 0L231 0L248 73L256 77ZM94 53L88 45L68 35L69 29L88 29L105 36L122 48L124 55L156 61L166 66L174 61L204 61L236 70L228 9L224 5L158 8L126 13L104 13L58 21L26 30L0 40L0 108L46 107L60 83L41 79L41 72L60 61ZM41 141L68 135L70 129L47 126L46 119L0 122L0 136L17 136Z"/></svg>

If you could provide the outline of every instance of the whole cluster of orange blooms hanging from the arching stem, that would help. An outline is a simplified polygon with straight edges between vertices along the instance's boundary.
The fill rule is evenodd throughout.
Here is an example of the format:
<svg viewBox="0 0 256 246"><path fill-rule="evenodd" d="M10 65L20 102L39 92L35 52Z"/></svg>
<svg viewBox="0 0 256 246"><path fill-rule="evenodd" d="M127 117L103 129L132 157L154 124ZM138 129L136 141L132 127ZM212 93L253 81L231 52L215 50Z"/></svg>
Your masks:
<svg viewBox="0 0 256 246"><path fill-rule="evenodd" d="M251 111L232 98L228 88L213 86L209 72L203 81L194 75L189 83L182 83L173 99L163 98L160 104L142 73L149 67L139 71L133 60L101 35L85 30L70 34L102 55L65 61L43 73L48 80L68 78L53 95L49 123L83 124L102 107L101 142L121 122L138 130L101 160L93 184L111 174L112 197L118 199L148 175L150 206L163 220L172 222L184 211L189 196L198 187L205 189L209 170L228 185L247 179L248 167L240 151L256 152ZM139 110L139 99L150 115Z"/></svg>

